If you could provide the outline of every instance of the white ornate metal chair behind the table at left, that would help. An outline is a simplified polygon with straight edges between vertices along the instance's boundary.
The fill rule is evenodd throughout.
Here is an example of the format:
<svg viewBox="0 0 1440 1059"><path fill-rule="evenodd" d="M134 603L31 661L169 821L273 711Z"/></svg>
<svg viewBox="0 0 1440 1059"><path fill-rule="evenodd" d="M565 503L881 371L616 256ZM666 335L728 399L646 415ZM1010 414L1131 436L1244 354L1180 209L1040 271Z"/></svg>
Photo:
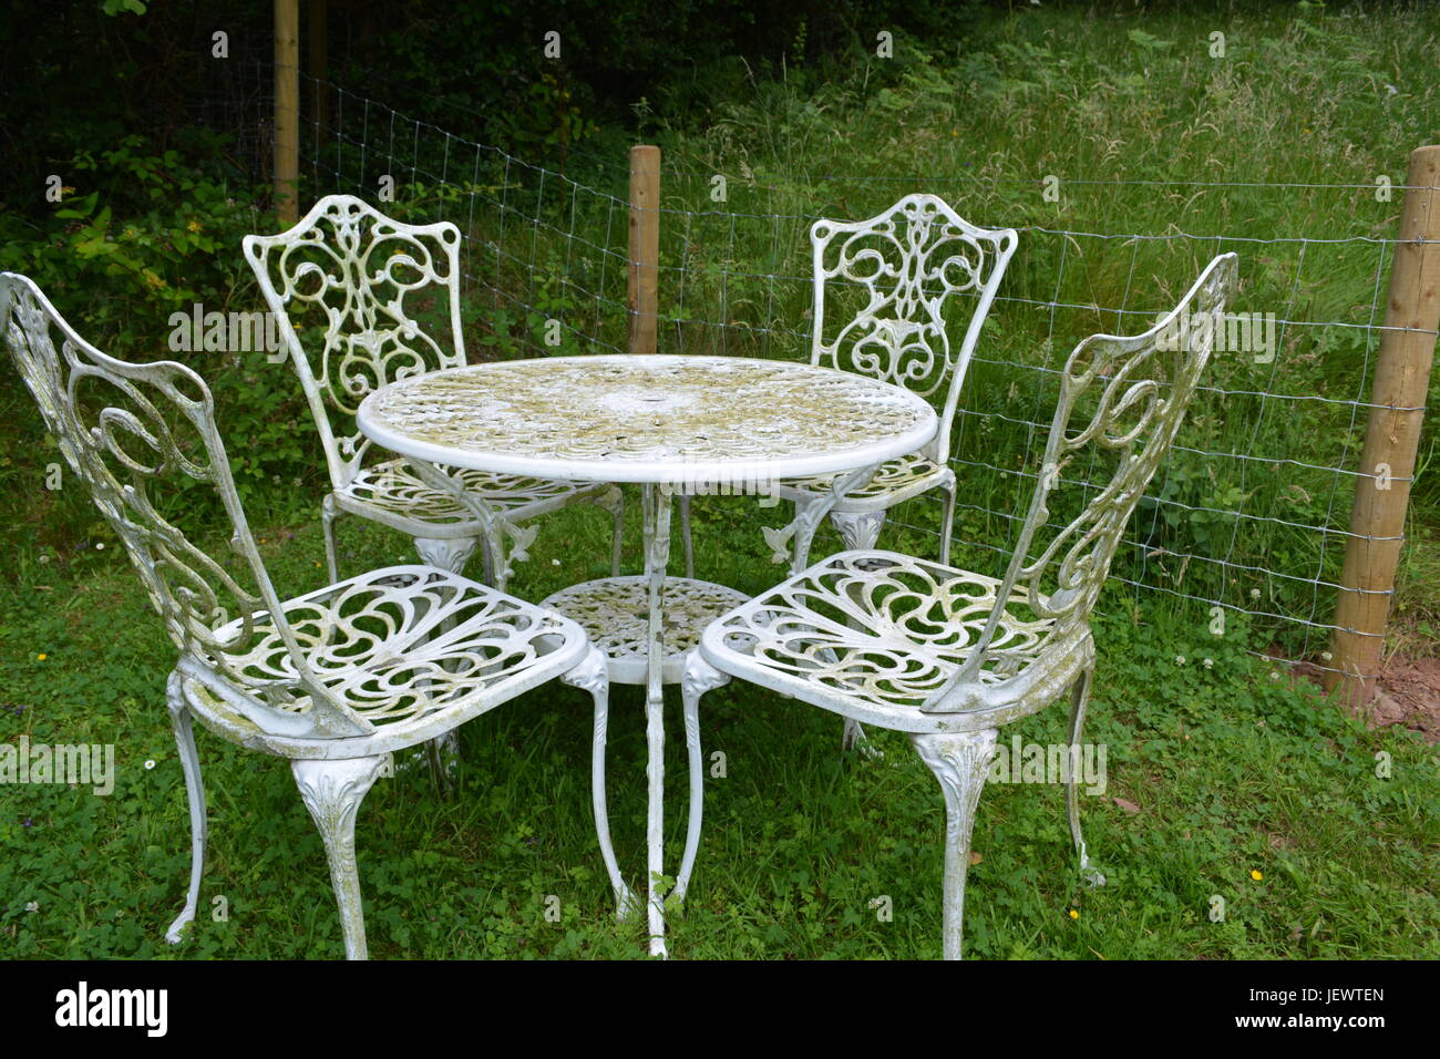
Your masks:
<svg viewBox="0 0 1440 1059"><path fill-rule="evenodd" d="M354 424L360 402L395 379L465 363L459 245L449 222L406 225L350 195L325 196L279 235L245 236L245 259L279 318L325 450L330 578L340 576L333 523L348 511L410 535L425 562L455 573L484 542L484 581L503 589L511 560L526 559L534 539L534 527L520 523L580 500L613 514L619 573L624 500L613 486L444 468L484 501L477 511L422 481L405 460L367 465L370 442ZM428 313L418 304L426 298L436 303ZM304 327L320 333L310 343L314 359Z"/></svg>

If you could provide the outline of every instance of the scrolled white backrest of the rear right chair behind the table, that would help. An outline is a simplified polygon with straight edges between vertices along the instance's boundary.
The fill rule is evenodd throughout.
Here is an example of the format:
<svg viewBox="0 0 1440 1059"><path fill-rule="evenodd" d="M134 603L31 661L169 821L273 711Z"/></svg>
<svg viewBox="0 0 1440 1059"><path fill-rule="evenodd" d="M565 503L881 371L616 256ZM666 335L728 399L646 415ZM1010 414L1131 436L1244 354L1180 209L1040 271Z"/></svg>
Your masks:
<svg viewBox="0 0 1440 1059"><path fill-rule="evenodd" d="M922 396L949 383L927 447L945 463L965 370L1018 239L1011 228L976 228L933 195L907 195L868 220L816 220L811 363ZM952 294L975 298L959 350L945 320Z"/></svg>

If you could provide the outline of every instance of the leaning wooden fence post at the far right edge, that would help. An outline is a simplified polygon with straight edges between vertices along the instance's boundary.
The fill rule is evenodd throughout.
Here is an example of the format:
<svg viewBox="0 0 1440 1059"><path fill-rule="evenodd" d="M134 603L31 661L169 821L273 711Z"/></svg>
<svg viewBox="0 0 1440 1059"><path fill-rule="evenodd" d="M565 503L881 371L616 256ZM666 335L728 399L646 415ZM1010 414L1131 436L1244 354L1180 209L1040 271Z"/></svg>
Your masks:
<svg viewBox="0 0 1440 1059"><path fill-rule="evenodd" d="M1411 153L1405 183L1410 187L1385 303L1387 330L1380 339L1372 408L1355 478L1354 536L1345 548L1335 608L1338 628L1331 637L1331 666L1339 671L1325 674L1326 690L1339 689L1342 702L1355 710L1375 693L1384 654L1440 327L1440 146Z"/></svg>

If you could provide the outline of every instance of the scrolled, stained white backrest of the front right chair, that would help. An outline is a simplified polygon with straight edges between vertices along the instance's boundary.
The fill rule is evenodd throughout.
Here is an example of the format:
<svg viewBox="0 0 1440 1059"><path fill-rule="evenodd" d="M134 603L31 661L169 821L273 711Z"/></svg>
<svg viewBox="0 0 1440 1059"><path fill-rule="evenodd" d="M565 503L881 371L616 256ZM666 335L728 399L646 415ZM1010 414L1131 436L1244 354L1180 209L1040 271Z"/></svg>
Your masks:
<svg viewBox="0 0 1440 1059"><path fill-rule="evenodd" d="M949 697L950 689L999 679L1014 669L1015 660L994 641L1017 585L1027 589L1024 609L1056 622L1056 641L1067 641L1089 625L1120 533L1169 451L1210 360L1221 314L1236 290L1237 262L1234 254L1211 261L1181 303L1143 334L1092 334L1074 347L1060 373L1060 398L1034 499L995 609L965 666L927 699L926 709L965 709ZM1071 429L1071 415L1086 398L1093 411L1086 412L1084 426ZM1094 464L1113 460L1115 471L1068 523L1053 527L1053 494L1061 488L1066 467L1083 455Z"/></svg>

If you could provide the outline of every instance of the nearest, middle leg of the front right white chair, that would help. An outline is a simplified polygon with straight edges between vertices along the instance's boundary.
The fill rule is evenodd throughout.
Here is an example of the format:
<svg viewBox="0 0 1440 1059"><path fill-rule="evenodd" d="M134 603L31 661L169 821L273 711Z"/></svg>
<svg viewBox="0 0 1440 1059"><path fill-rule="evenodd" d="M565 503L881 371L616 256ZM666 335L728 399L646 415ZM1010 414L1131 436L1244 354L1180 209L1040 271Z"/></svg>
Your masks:
<svg viewBox="0 0 1440 1059"><path fill-rule="evenodd" d="M965 873L971 866L975 807L995 755L995 729L912 735L920 759L945 792L945 958L960 958L965 932Z"/></svg>

